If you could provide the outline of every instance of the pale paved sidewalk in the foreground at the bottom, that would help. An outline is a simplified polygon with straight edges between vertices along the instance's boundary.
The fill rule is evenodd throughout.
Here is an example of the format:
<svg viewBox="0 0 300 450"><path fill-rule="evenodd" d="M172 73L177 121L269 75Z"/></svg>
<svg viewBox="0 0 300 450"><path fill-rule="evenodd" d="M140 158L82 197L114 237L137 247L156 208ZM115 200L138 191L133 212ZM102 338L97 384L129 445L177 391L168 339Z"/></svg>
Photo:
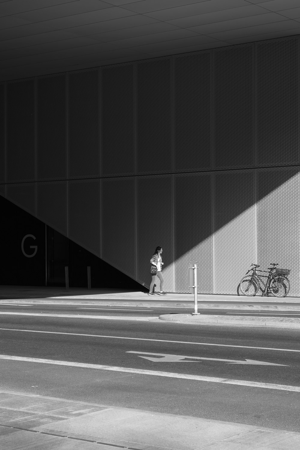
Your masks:
<svg viewBox="0 0 300 450"><path fill-rule="evenodd" d="M5 450L299 450L300 433L0 392Z"/></svg>

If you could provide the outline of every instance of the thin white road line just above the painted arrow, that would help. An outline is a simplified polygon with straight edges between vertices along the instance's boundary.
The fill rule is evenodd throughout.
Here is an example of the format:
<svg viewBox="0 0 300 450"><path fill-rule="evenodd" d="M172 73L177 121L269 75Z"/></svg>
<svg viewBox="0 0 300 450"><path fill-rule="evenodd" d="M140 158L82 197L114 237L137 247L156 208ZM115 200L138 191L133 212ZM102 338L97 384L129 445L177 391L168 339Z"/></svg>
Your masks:
<svg viewBox="0 0 300 450"><path fill-rule="evenodd" d="M194 344L194 345L207 345L207 346L214 346L214 347L254 348L257 350L295 351L298 353L300 352L300 350L293 350L293 349L289 349L289 348L250 347L250 346L246 346L246 345L211 344L208 342L188 342L188 341L168 341L165 339L127 338L124 336L106 336L103 334L64 333L61 331L21 330L21 329L15 329L15 328L0 328L0 330L20 331L20 332L24 332L24 333L65 334L67 336L86 336L88 338L131 339L133 341L171 342L173 344Z"/></svg>

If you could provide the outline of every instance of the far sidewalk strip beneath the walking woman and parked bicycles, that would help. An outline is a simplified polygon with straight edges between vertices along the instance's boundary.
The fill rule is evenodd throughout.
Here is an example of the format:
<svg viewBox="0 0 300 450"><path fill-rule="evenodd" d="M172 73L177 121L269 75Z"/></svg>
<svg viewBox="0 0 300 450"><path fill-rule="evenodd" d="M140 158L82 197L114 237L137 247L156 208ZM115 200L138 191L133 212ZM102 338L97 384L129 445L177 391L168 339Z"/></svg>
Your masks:
<svg viewBox="0 0 300 450"><path fill-rule="evenodd" d="M0 304L58 304L101 306L194 307L189 293L148 296L143 291L104 288L65 288L45 286L0 286ZM238 295L198 294L198 307L208 309L278 309L300 311L299 297L242 297Z"/></svg>

